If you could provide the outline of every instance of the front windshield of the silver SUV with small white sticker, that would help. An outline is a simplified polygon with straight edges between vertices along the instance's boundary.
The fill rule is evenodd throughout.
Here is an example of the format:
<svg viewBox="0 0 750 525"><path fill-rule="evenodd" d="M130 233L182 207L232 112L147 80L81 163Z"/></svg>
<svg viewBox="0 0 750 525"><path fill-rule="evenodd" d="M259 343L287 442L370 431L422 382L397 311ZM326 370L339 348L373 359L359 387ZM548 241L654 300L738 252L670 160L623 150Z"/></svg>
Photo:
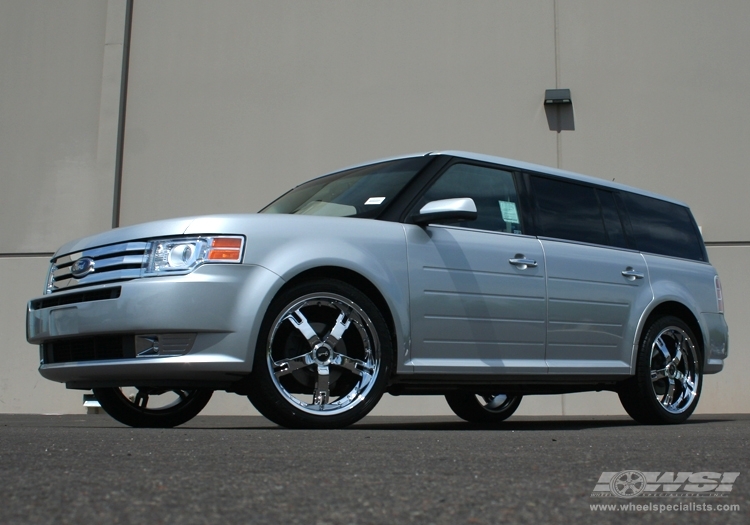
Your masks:
<svg viewBox="0 0 750 525"><path fill-rule="evenodd" d="M376 218L429 157L362 166L311 180L282 195L260 213Z"/></svg>

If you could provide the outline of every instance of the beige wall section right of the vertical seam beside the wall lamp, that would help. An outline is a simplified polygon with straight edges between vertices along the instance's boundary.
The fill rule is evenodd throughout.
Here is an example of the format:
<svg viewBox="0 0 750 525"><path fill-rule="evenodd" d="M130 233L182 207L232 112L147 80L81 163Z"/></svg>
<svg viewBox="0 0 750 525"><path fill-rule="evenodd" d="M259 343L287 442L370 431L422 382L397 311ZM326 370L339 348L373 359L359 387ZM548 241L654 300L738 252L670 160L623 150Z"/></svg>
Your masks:
<svg viewBox="0 0 750 525"><path fill-rule="evenodd" d="M750 241L750 2L559 0L558 11L576 114L563 167L687 202L707 241Z"/></svg>

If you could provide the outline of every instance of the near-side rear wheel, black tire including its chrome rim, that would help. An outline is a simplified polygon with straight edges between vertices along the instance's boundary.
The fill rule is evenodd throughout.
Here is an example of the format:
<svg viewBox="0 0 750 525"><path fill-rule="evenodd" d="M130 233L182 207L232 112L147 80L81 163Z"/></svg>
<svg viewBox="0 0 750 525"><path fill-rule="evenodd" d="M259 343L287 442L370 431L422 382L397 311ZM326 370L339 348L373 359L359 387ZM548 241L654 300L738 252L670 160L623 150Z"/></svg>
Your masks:
<svg viewBox="0 0 750 525"><path fill-rule="evenodd" d="M695 410L702 383L700 343L673 316L652 323L641 338L635 376L618 390L625 411L647 425L682 423Z"/></svg>

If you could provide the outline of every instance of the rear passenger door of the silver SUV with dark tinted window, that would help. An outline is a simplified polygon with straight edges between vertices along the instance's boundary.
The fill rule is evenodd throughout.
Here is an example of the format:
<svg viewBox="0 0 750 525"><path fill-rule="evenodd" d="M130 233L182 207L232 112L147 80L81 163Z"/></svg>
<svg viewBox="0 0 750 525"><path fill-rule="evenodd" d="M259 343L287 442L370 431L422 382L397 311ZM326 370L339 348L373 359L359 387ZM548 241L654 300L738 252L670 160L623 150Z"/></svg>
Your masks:
<svg viewBox="0 0 750 525"><path fill-rule="evenodd" d="M550 374L628 374L641 312L651 301L643 256L627 247L615 194L530 176L547 264Z"/></svg>

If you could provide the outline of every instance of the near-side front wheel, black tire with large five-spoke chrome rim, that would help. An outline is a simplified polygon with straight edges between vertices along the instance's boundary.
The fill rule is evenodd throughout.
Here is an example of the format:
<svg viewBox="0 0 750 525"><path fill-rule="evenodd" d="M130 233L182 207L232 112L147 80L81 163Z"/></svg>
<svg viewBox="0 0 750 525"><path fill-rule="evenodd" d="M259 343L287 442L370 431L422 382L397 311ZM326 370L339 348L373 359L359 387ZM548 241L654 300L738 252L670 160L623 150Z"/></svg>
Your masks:
<svg viewBox="0 0 750 525"><path fill-rule="evenodd" d="M392 362L388 325L364 293L335 279L308 281L271 303L248 398L281 426L343 428L378 403Z"/></svg>

